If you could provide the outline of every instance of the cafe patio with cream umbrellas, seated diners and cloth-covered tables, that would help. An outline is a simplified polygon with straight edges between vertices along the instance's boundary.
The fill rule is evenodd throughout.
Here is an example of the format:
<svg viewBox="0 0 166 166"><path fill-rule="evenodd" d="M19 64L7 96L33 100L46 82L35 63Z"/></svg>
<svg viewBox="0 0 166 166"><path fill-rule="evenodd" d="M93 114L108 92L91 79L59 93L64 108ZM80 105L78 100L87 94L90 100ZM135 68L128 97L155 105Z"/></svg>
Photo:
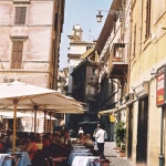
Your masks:
<svg viewBox="0 0 166 166"><path fill-rule="evenodd" d="M83 103L53 90L17 81L0 84L0 112L6 118L13 120L12 127L1 131L0 134L1 166L110 166L114 160L110 157L118 158L116 152L114 156L107 155L106 143L104 155L100 154L89 133L79 134L72 139L70 131L64 125L52 131L51 114L48 117L48 132L46 111L83 114L86 108ZM28 116L25 112L31 112L31 127L27 128L28 131L19 131L17 118ZM42 117L39 117L40 112L44 113ZM42 118L43 125L39 118ZM39 132L39 128L43 131ZM115 145L112 146L108 149L113 149ZM116 166L116 162L113 165Z"/></svg>

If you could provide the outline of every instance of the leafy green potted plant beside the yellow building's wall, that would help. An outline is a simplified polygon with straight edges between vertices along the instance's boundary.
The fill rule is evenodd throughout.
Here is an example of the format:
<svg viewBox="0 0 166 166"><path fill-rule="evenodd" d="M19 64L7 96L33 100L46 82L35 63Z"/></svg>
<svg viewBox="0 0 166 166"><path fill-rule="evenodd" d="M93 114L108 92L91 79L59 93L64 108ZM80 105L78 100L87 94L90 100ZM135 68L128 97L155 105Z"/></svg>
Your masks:
<svg viewBox="0 0 166 166"><path fill-rule="evenodd" d="M118 124L115 125L116 147L121 147L122 143L125 142L125 134L126 134L125 122L120 122Z"/></svg>

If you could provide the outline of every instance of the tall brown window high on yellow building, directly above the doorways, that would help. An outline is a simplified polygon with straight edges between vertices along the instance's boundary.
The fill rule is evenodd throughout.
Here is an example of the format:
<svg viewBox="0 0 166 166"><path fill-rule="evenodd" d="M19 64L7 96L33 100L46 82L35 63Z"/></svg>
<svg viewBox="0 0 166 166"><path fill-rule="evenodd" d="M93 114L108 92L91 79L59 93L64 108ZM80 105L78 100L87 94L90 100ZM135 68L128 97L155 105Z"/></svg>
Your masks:
<svg viewBox="0 0 166 166"><path fill-rule="evenodd" d="M151 0L146 1L146 31L145 38L148 38L151 34Z"/></svg>

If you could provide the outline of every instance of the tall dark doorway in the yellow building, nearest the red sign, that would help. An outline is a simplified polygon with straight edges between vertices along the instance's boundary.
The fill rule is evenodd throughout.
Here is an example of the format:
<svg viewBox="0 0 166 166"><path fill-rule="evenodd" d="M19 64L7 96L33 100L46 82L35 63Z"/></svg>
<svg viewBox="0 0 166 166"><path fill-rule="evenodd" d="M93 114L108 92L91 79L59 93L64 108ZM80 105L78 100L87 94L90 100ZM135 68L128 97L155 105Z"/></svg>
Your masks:
<svg viewBox="0 0 166 166"><path fill-rule="evenodd" d="M146 165L147 159L148 97L138 101L136 163Z"/></svg>

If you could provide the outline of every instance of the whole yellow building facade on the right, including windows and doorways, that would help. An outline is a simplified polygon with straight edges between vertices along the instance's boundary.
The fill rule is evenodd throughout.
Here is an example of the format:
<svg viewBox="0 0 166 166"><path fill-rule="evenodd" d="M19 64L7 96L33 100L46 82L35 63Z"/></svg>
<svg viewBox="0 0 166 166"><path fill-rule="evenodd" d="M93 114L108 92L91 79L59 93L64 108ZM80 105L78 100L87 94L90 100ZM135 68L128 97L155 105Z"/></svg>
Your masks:
<svg viewBox="0 0 166 166"><path fill-rule="evenodd" d="M160 124L165 122L165 106L157 106L157 93L165 89L164 82L158 82L166 63L165 11L164 0L132 3L131 92L134 91L135 102L128 108L133 117L131 149L132 159L147 166L163 166L166 157L165 124Z"/></svg>

